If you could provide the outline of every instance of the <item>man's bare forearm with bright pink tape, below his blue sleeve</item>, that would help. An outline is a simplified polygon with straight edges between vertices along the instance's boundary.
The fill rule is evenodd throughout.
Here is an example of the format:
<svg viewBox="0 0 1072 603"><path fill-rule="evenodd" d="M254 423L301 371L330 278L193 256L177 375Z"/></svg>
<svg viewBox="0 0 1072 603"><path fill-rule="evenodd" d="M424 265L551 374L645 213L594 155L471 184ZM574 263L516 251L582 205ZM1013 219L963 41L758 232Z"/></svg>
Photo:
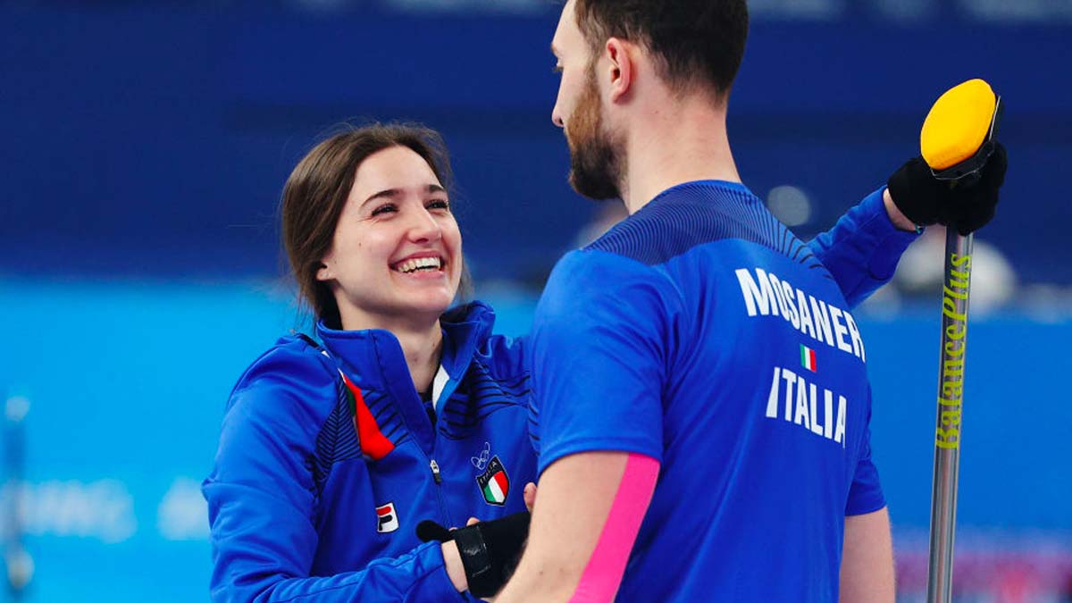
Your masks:
<svg viewBox="0 0 1072 603"><path fill-rule="evenodd" d="M496 603L612 601L658 467L623 452L580 453L548 467L528 547Z"/></svg>

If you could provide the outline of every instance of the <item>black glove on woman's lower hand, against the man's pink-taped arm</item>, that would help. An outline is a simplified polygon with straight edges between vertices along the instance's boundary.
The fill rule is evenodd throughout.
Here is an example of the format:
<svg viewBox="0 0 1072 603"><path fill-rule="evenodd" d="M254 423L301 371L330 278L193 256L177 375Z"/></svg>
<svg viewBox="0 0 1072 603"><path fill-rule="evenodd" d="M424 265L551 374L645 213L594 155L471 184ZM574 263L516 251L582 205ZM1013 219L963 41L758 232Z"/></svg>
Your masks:
<svg viewBox="0 0 1072 603"><path fill-rule="evenodd" d="M417 524L417 538L425 542L455 541L465 568L468 591L474 597L492 597L510 579L528 539L530 513L523 511L491 521L448 530L425 519Z"/></svg>

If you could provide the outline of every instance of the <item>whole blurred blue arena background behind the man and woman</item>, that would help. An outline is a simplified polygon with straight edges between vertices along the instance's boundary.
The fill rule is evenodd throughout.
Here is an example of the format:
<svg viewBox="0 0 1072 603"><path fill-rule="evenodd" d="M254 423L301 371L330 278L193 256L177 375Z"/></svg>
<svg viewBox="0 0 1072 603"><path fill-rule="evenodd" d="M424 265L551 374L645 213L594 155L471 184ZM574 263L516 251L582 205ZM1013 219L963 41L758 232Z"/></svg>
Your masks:
<svg viewBox="0 0 1072 603"><path fill-rule="evenodd" d="M730 135L809 238L918 153L947 88L1007 103L977 235L955 589L1072 601L1072 0L754 0ZM12 601L204 601L200 480L242 369L308 328L276 207L333 126L453 152L477 297L524 333L549 268L615 218L568 188L548 0L0 0L0 506ZM899 599L922 601L940 233L857 310Z"/></svg>

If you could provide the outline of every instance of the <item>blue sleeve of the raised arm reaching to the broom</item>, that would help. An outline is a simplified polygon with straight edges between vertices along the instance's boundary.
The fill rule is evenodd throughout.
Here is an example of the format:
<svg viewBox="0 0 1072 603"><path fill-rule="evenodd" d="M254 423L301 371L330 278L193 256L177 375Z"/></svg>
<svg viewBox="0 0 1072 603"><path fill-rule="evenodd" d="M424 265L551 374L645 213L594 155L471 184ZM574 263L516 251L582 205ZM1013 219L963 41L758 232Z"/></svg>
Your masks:
<svg viewBox="0 0 1072 603"><path fill-rule="evenodd" d="M834 277L850 308L890 282L900 255L920 236L893 224L882 202L884 190L882 187L864 197L833 229L808 244Z"/></svg>

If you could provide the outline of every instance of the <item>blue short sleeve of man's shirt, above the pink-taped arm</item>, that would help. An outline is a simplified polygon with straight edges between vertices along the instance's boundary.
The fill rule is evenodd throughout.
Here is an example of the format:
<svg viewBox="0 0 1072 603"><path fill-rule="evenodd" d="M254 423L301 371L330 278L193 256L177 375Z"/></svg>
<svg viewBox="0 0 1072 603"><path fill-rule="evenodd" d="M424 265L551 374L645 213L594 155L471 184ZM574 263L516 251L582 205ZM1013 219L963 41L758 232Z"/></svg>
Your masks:
<svg viewBox="0 0 1072 603"><path fill-rule="evenodd" d="M655 268L602 251L555 267L533 321L539 472L571 454L637 453L661 461L670 305Z"/></svg>

